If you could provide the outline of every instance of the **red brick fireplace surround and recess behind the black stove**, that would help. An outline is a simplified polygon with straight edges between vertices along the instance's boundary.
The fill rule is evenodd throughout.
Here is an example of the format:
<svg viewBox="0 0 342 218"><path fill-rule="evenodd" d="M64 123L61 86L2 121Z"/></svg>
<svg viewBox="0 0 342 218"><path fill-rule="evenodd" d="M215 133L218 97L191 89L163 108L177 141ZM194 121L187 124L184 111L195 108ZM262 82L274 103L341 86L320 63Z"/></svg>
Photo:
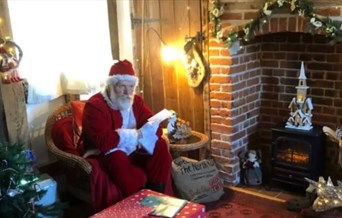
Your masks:
<svg viewBox="0 0 342 218"><path fill-rule="evenodd" d="M225 25L256 17L261 4L251 0L221 2L225 3ZM341 3L314 2L317 13L341 18ZM301 61L314 106L313 124L333 129L342 125L342 44L330 45L323 35L305 33L305 22L299 16L279 14L232 55L223 43L210 39L211 153L226 184L239 183L237 154L247 148L262 151L263 173L270 172L271 128L289 117L288 105L296 95ZM324 150L322 175L341 179L338 145L327 141Z"/></svg>

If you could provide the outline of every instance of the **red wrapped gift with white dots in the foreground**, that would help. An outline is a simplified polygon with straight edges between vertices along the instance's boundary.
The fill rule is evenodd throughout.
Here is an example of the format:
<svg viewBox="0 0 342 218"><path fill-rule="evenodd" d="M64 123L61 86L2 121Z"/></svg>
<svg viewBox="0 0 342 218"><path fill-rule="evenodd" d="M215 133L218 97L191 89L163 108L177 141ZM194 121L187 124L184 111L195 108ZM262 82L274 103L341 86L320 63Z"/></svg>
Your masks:
<svg viewBox="0 0 342 218"><path fill-rule="evenodd" d="M141 204L141 200L148 195L167 196L149 189L143 189L90 218L152 217L149 214L154 210L153 207ZM188 202L175 217L202 218L205 217L205 207L201 204Z"/></svg>

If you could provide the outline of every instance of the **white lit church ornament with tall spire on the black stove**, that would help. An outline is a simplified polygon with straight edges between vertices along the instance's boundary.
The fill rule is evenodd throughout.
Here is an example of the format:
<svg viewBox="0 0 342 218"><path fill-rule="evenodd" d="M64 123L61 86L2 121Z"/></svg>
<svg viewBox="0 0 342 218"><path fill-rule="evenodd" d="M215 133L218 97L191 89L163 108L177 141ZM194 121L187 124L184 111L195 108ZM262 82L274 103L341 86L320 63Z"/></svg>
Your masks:
<svg viewBox="0 0 342 218"><path fill-rule="evenodd" d="M286 122L286 128L310 130L312 129L312 101L307 97L306 76L304 72L304 63L302 61L299 75L297 96L294 97L289 105L290 117Z"/></svg>

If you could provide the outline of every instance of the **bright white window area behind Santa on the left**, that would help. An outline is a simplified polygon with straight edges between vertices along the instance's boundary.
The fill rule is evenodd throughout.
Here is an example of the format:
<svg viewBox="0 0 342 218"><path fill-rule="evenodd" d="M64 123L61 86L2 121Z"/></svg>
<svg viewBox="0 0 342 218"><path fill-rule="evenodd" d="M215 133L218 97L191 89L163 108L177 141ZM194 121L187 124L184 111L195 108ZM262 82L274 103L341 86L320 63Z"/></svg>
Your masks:
<svg viewBox="0 0 342 218"><path fill-rule="evenodd" d="M8 0L8 7L28 103L100 87L113 63L107 0Z"/></svg>

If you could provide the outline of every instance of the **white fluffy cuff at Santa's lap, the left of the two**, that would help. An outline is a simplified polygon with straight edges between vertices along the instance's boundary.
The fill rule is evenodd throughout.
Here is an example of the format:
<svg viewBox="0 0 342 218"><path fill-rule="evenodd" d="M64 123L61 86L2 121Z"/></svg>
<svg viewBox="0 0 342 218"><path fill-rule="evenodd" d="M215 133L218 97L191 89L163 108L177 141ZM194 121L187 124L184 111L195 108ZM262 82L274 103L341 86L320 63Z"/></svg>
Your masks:
<svg viewBox="0 0 342 218"><path fill-rule="evenodd" d="M120 141L116 150L121 150L130 155L138 146L138 131L136 129L117 129Z"/></svg>

